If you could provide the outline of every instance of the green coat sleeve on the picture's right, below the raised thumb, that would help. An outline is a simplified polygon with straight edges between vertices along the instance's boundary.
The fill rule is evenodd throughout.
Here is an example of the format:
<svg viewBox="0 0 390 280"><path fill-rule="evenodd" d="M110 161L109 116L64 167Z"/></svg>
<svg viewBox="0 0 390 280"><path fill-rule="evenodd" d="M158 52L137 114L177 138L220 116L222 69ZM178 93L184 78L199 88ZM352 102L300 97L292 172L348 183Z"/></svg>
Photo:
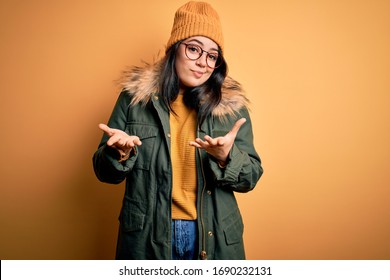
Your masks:
<svg viewBox="0 0 390 280"><path fill-rule="evenodd" d="M236 192L251 191L263 174L261 160L253 143L252 122L248 110L242 110L238 118L229 119L226 126L233 127L233 124L242 117L246 118L246 122L237 133L227 166L220 168L215 160L210 159L210 167L217 185Z"/></svg>

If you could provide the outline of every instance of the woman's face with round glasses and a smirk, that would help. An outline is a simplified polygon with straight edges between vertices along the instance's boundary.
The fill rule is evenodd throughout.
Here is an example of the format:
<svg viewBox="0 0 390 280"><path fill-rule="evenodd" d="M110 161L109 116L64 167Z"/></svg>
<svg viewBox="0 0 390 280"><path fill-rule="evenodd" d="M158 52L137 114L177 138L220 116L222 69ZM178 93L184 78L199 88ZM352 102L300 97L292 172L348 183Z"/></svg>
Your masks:
<svg viewBox="0 0 390 280"><path fill-rule="evenodd" d="M187 45L186 45L187 44ZM205 51L198 59L190 59L186 55L192 55L201 50ZM176 54L176 73L180 82L180 93L188 87L196 87L206 82L214 69L207 65L212 65L213 55L218 55L218 45L211 39L203 36L194 36L185 39L179 46ZM192 57L193 58L193 57ZM208 60L206 62L206 59Z"/></svg>

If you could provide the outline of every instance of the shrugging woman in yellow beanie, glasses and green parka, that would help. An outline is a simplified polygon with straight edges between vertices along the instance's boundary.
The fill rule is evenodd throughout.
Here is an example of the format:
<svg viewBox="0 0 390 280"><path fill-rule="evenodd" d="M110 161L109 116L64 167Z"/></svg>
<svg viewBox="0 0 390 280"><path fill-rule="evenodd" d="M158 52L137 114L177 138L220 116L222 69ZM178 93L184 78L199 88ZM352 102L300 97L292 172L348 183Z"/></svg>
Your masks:
<svg viewBox="0 0 390 280"><path fill-rule="evenodd" d="M93 157L99 180L126 180L117 259L244 259L234 192L263 173L247 98L227 77L215 10L188 2L165 57L128 72Z"/></svg>

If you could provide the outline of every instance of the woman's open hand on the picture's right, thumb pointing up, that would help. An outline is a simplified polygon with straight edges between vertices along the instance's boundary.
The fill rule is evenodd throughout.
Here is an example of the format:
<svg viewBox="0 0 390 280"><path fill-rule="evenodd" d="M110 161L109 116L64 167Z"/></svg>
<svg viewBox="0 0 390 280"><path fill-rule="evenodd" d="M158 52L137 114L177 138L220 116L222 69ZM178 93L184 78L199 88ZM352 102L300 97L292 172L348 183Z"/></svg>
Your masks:
<svg viewBox="0 0 390 280"><path fill-rule="evenodd" d="M195 141L190 142L190 145L205 150L208 154L213 156L220 165L225 166L238 130L245 122L246 119L241 118L236 121L232 129L225 136L212 138L209 135L206 135L204 141L200 138L196 138Z"/></svg>

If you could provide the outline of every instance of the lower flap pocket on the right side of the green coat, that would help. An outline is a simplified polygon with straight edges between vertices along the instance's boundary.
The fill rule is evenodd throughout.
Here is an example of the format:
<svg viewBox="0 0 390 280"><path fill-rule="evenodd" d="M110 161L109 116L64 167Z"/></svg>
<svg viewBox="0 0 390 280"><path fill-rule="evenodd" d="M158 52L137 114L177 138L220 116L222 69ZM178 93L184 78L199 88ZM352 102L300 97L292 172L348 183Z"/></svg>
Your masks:
<svg viewBox="0 0 390 280"><path fill-rule="evenodd" d="M244 224L238 209L234 210L223 219L223 232L227 245L233 245L242 242L244 233Z"/></svg>

